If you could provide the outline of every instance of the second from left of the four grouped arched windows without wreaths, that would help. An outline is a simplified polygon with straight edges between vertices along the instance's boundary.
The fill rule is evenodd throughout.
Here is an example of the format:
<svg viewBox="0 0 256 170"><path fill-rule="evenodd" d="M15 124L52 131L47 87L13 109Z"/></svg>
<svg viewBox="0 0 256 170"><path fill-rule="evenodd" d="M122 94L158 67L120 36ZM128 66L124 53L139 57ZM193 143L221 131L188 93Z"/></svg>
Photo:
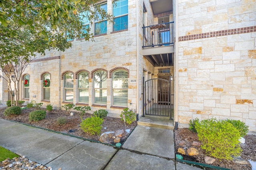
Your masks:
<svg viewBox="0 0 256 170"><path fill-rule="evenodd" d="M89 74L88 72L80 72L78 74L78 102L89 102Z"/></svg>

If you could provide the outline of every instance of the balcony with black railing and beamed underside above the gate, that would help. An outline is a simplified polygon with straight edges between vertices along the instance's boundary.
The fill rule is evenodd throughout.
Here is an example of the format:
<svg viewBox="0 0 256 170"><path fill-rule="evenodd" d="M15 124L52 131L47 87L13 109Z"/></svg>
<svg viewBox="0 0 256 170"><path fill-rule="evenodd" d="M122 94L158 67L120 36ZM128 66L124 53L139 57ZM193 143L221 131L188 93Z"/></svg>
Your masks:
<svg viewBox="0 0 256 170"><path fill-rule="evenodd" d="M174 22L142 27L142 55L153 66L173 66Z"/></svg>

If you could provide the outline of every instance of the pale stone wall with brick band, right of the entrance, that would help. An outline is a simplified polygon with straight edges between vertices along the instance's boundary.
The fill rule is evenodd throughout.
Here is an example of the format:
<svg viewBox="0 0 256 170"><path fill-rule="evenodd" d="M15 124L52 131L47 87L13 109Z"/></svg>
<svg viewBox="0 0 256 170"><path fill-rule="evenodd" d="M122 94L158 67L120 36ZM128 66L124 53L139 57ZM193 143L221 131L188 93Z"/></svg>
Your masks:
<svg viewBox="0 0 256 170"><path fill-rule="evenodd" d="M237 119L256 131L256 1L178 3L178 122Z"/></svg>

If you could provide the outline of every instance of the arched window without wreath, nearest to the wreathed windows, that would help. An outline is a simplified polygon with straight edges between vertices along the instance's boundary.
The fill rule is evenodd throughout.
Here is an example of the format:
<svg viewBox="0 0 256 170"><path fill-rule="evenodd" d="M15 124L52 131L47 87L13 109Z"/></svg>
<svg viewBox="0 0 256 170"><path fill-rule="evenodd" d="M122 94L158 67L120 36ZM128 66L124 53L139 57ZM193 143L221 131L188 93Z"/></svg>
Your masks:
<svg viewBox="0 0 256 170"><path fill-rule="evenodd" d="M74 75L72 72L64 74L64 100L73 102L74 100Z"/></svg>

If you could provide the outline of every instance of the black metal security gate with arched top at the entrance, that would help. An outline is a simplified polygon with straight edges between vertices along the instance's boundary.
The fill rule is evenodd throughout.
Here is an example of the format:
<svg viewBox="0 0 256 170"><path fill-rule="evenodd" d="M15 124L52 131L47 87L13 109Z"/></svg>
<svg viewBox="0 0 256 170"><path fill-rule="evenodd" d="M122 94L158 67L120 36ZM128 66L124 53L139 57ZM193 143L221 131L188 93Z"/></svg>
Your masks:
<svg viewBox="0 0 256 170"><path fill-rule="evenodd" d="M170 79L154 78L144 81L143 77L143 116L170 116L171 83Z"/></svg>

